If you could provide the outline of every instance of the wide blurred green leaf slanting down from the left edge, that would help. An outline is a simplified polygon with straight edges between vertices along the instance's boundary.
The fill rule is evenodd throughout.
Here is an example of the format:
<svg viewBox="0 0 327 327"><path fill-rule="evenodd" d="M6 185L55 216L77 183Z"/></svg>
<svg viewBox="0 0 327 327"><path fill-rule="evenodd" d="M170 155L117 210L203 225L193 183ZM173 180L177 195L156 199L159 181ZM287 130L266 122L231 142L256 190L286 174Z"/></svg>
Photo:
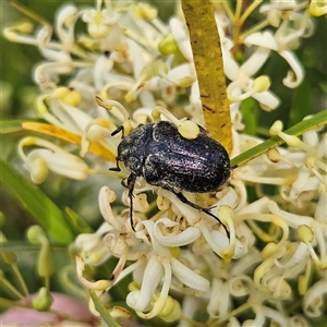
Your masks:
<svg viewBox="0 0 327 327"><path fill-rule="evenodd" d="M0 159L0 169L1 183L33 215L50 237L63 244L74 240L74 233L70 228L65 213L3 159Z"/></svg>

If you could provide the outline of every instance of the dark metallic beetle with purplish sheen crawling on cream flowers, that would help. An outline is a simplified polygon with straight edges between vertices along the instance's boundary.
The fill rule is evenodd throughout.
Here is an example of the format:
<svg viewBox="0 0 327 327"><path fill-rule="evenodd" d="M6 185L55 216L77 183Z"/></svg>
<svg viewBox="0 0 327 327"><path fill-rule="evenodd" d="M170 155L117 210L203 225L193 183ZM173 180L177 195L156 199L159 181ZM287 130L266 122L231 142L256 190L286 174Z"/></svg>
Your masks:
<svg viewBox="0 0 327 327"><path fill-rule="evenodd" d="M138 125L126 137L123 126L120 126L111 135L120 131L123 135L118 146L117 167L110 170L120 171L119 161L122 161L131 171L122 184L129 189L133 229L133 189L137 177L172 192L181 202L206 213L221 223L209 209L190 202L182 193L216 191L229 179L230 159L220 143L210 138L201 126L196 138L186 140L168 121ZM222 226L229 235L228 229Z"/></svg>

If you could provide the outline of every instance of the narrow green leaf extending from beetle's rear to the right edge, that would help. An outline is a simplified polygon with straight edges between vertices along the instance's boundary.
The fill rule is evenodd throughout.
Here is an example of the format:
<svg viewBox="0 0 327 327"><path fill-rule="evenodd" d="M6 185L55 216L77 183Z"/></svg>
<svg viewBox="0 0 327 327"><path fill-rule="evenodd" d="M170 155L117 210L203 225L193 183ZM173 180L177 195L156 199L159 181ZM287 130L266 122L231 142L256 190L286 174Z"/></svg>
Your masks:
<svg viewBox="0 0 327 327"><path fill-rule="evenodd" d="M307 120L303 120L292 128L284 131L289 135L302 135L303 133L317 129L327 124L327 110L323 110ZM254 146L245 153L237 156L231 160L231 167L243 166L247 161L258 157L262 154L267 153L269 149L283 144L284 142L279 136L272 136L269 140Z"/></svg>

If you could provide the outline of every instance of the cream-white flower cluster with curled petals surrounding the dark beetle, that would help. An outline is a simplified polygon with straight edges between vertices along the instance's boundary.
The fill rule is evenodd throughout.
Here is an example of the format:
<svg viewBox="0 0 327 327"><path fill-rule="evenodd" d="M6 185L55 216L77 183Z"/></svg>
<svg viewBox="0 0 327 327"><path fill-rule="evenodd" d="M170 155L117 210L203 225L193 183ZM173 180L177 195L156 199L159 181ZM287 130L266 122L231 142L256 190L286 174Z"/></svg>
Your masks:
<svg viewBox="0 0 327 327"><path fill-rule="evenodd" d="M241 133L242 101L252 97L265 110L280 102L269 90L269 77L258 72L275 51L289 65L276 82L299 86L304 69L293 50L301 38L313 34L312 15L326 14L326 5L254 1L243 14L238 9L233 13L227 1L215 5L230 81L234 157L262 142ZM263 20L242 31L257 7ZM87 33L75 32L80 21ZM25 137L19 148L32 180L44 182L49 170L77 180L109 177L109 186L99 193L104 225L95 233L80 234L72 245L77 276L86 288L105 302L106 291L132 275L128 305L144 319L179 320L179 326L196 324L204 313L208 324L233 326L264 326L267 320L305 326L306 319L322 316L327 294L326 133L308 131L300 140L283 133L276 122L270 134L287 147L233 169L229 184L209 199L185 193L191 202L213 206L229 237L215 219L142 178L134 187L132 227L129 190L122 194L126 208L114 208L117 177L129 172L108 171L120 140L110 134L120 125L129 133L152 122L158 111L178 125L184 117L204 124L181 12L166 24L155 8L142 2L97 1L95 9L66 4L58 11L53 27L44 25L32 34L31 26L22 24L7 28L4 35L36 46L45 58L34 77L43 92L37 109L49 124L23 126L81 147L76 155L71 146ZM237 50L244 51L242 63L235 59ZM70 76L65 86L63 75ZM32 145L38 148L26 155L25 147ZM255 186L255 201L249 197L249 184ZM265 194L264 184L274 185L274 196ZM148 201L153 194L155 199ZM99 280L86 276L88 267L110 257L118 258L111 276ZM302 308L292 308L296 296ZM119 316L117 308L112 313Z"/></svg>

